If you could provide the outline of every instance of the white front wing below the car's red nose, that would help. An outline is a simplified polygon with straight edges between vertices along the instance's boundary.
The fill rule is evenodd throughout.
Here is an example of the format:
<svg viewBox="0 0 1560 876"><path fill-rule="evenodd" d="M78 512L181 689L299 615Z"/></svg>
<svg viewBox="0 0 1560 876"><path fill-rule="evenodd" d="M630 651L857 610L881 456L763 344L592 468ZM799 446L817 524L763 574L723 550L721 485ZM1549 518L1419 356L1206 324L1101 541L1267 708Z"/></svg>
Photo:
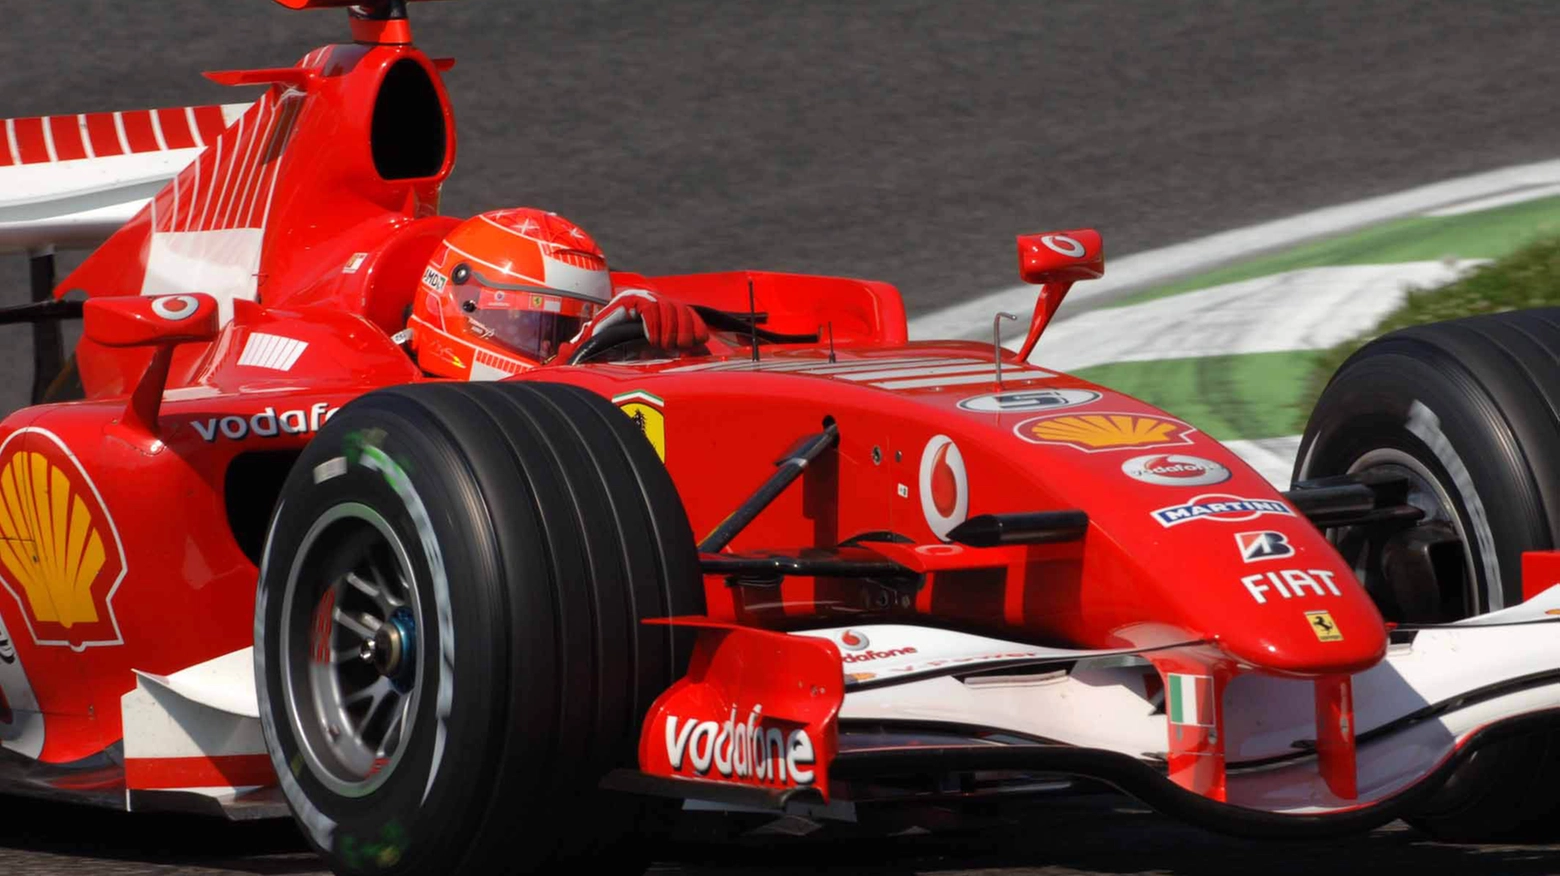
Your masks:
<svg viewBox="0 0 1560 876"><path fill-rule="evenodd" d="M1412 644L1393 645L1385 661L1356 675L1356 733L1367 737L1357 750L1357 800L1334 797L1317 773L1315 758L1306 753L1317 736L1312 683L1237 676L1220 705L1231 770L1229 803L1285 814L1357 807L1410 787L1484 726L1560 709L1560 617L1549 611L1560 611L1560 588L1512 609L1420 628ZM844 633L805 634L838 644ZM874 678L866 681L869 687L847 689L844 720L1000 728L1151 762L1162 759L1167 748L1162 694L1148 683L1154 670L1142 659L1123 659L1123 652L1034 648L903 625L853 627L850 634L866 638L874 652L914 648L914 653L847 664L847 675L870 666ZM1025 652L1033 653L1028 667L1006 676L991 672ZM1055 672L1036 666L1050 659L1056 662ZM973 670L981 670L981 676L961 680L950 673ZM930 672L944 675L927 676ZM1427 712L1429 706L1549 672L1554 680ZM883 680L889 678L911 681L886 684ZM1404 720L1410 715L1423 720ZM1388 725L1393 725L1388 733L1368 736ZM1254 762L1265 765L1242 770L1242 764Z"/></svg>

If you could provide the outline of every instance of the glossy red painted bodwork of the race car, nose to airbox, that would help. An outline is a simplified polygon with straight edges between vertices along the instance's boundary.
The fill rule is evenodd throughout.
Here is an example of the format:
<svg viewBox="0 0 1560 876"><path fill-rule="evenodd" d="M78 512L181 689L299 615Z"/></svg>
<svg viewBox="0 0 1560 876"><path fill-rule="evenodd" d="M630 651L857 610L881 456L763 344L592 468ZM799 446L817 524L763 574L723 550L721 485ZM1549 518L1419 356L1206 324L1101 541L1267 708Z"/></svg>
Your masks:
<svg viewBox="0 0 1560 876"><path fill-rule="evenodd" d="M201 309L192 326L201 324L195 335L148 324L156 320L137 309L144 298L90 309L76 349L86 399L25 408L0 424L0 619L45 719L45 762L81 761L122 737L119 701L133 670L170 673L251 644L256 558L290 455L356 396L424 379L390 335L406 324L429 254L457 223L437 214L456 156L446 64L396 28L359 31L363 42L320 48L295 69L214 76L271 84L59 285L94 301L190 295ZM376 151L376 132L382 143L398 123L424 139L402 153ZM1069 232L1020 238L1020 257L1026 279L1045 284L1028 348L1067 285L1098 276L1103 256L1097 234ZM766 329L822 329L831 343L764 346L753 363L743 338L725 335L707 357L518 379L577 383L638 415L696 536L830 418L838 449L729 550L796 553L892 533L897 544L842 550L925 574L903 605L874 602L870 586L852 580L792 577L778 589L746 589L710 575L714 622L914 619L1076 647L1200 642L1153 659L1167 683L1203 692L1206 720L1172 723L1170 770L1215 798L1231 676L1314 676L1318 715L1337 728L1348 673L1385 653L1382 619L1332 547L1192 424L1011 352L997 385L987 344L909 343L899 293L883 282L775 273L652 282L732 312L747 312L752 295ZM978 514L1047 510L1086 511L1086 536L1009 547L947 541ZM819 652L808 659L831 650L797 647ZM696 672L755 684L747 670L700 653ZM679 697L699 698L668 692ZM719 709L757 705L682 714L668 711L671 700L651 717L647 748L658 745L663 712L724 722ZM764 706L777 709L777 728L831 726L831 712ZM1318 739L1323 770L1345 795L1353 737ZM816 744L822 770L830 742ZM644 767L671 768L654 754Z"/></svg>

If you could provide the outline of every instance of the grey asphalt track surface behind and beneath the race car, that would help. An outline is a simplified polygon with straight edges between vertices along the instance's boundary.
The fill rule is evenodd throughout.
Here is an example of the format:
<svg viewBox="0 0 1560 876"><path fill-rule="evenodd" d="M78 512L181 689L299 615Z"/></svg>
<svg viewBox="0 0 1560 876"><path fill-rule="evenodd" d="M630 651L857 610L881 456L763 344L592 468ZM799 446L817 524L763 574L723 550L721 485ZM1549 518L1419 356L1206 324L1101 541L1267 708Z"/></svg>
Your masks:
<svg viewBox="0 0 1560 876"><path fill-rule="evenodd" d="M460 61L448 212L544 206L647 273L889 279L913 313L1011 285L1020 231L1094 226L1123 254L1560 153L1548 0L465 0L413 20ZM340 12L264 0L0 0L0 117L243 100L198 73L343 37ZM25 282L0 265L0 302ZM25 329L0 329L0 369L9 410ZM1402 828L1239 843L1101 800L1044 829L679 854L699 874L1560 871ZM317 867L287 825L0 800L3 873Z"/></svg>

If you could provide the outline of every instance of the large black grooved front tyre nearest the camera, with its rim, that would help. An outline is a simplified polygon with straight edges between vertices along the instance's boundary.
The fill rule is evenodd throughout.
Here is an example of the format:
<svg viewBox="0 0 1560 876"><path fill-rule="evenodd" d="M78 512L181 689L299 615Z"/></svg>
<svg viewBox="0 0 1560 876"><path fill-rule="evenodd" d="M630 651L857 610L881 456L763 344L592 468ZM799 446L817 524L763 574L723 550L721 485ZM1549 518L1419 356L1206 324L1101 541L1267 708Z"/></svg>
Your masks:
<svg viewBox="0 0 1560 876"><path fill-rule="evenodd" d="M632 765L704 611L655 450L555 383L424 383L343 407L273 514L256 600L261 722L335 873L532 873L643 860L663 804ZM633 870L641 871L641 870Z"/></svg>

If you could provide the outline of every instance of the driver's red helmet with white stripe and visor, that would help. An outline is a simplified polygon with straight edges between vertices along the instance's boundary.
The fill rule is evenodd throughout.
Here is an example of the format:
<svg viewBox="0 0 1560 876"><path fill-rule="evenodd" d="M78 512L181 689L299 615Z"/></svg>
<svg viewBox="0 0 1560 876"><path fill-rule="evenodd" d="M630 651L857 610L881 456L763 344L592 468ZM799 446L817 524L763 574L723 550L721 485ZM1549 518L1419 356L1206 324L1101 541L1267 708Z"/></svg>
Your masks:
<svg viewBox="0 0 1560 876"><path fill-rule="evenodd" d="M473 217L434 251L412 302L429 374L498 380L548 360L612 298L585 229L530 207Z"/></svg>

